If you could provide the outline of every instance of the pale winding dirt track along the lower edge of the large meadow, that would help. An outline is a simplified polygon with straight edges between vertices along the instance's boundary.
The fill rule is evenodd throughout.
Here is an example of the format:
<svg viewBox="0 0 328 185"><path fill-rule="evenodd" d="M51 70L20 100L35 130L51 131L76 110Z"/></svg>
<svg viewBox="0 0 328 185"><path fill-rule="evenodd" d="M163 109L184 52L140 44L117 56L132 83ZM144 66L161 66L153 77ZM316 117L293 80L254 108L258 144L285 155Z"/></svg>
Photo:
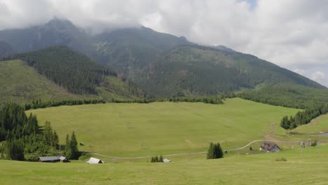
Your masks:
<svg viewBox="0 0 328 185"><path fill-rule="evenodd" d="M247 143L245 146L236 148L236 149L228 149L227 151L236 151L236 150L240 150L240 149L245 149L247 146L250 146L251 144L254 144L256 142L280 142L280 143L297 143L297 142L290 142L290 141L281 141L281 140L268 140L268 139L261 139L261 140L254 140L252 142ZM151 158L151 156L140 156L140 157L115 157L115 156L106 156L106 155L102 155L100 153L95 153L92 151L85 151L88 153L93 153L96 156L102 156L102 157L106 157L106 158L114 158L114 159L139 159L139 158ZM198 152L189 152L189 153L173 153L173 154L167 154L167 155L163 155L163 157L168 157L168 156L190 156L190 155L196 155L196 154L203 154L203 153L207 153L207 151L198 151Z"/></svg>

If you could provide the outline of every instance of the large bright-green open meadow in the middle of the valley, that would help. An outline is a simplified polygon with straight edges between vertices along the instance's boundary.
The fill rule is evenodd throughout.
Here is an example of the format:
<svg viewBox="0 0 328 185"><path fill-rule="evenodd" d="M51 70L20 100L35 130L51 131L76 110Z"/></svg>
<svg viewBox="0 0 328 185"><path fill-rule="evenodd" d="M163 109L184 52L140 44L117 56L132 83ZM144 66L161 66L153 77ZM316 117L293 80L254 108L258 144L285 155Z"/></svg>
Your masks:
<svg viewBox="0 0 328 185"><path fill-rule="evenodd" d="M206 151L210 142L224 149L263 139L285 137L280 119L298 109L274 107L239 98L224 104L156 102L52 107L32 112L40 124L50 121L64 144L74 130L80 150L108 156L149 156Z"/></svg>

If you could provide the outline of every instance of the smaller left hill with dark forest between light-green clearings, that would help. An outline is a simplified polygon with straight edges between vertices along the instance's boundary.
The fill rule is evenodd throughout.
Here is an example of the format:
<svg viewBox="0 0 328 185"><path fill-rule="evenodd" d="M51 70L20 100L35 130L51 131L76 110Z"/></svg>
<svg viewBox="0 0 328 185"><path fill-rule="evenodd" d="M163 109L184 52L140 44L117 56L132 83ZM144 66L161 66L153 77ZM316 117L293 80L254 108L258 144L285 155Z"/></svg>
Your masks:
<svg viewBox="0 0 328 185"><path fill-rule="evenodd" d="M86 55L52 46L0 62L0 102L32 100L135 100L142 90Z"/></svg>

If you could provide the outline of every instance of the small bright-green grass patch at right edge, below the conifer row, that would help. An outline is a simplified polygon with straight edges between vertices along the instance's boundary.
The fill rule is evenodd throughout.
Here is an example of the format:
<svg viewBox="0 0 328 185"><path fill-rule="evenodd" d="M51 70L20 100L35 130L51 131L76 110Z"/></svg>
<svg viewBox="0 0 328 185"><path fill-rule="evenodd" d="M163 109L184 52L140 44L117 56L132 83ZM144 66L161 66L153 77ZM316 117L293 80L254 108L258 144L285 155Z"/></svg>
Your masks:
<svg viewBox="0 0 328 185"><path fill-rule="evenodd" d="M307 125L301 125L292 132L304 135L322 134L328 132L328 114L319 116Z"/></svg>

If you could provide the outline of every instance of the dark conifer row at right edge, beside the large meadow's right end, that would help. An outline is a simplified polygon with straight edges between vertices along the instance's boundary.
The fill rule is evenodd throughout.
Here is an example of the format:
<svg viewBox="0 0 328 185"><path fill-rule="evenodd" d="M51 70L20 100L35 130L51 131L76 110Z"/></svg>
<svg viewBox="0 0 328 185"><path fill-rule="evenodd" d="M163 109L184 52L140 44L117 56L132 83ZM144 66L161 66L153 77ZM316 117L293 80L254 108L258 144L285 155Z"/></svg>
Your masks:
<svg viewBox="0 0 328 185"><path fill-rule="evenodd" d="M299 111L295 116L284 116L280 121L280 126L285 129L294 129L299 125L305 125L310 123L313 118L317 118L322 114L328 113L328 104L320 105L317 107L305 109L305 111Z"/></svg>

